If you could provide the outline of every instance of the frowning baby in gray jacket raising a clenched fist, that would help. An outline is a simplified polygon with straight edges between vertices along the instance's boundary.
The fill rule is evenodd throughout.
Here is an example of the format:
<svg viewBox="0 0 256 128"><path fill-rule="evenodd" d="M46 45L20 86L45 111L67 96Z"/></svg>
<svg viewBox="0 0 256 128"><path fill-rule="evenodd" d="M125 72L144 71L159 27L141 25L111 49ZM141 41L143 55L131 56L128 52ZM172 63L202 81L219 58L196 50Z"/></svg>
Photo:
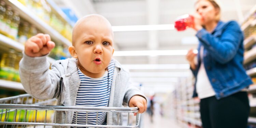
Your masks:
<svg viewBox="0 0 256 128"><path fill-rule="evenodd" d="M49 70L46 56L55 47L47 34L37 34L25 43L20 61L20 78L26 92L38 99L57 98L57 105L129 107L146 111L143 93L129 84L129 72L112 59L113 31L101 15L77 21L69 52L73 58L57 60ZM65 112L57 112L57 123L65 122ZM120 115L120 113L119 113ZM134 114L136 115L136 114ZM67 123L86 124L86 112L67 113ZM98 125L122 125L117 113L98 113ZM122 116L122 115L120 115ZM96 113L88 113L88 124L96 124Z"/></svg>

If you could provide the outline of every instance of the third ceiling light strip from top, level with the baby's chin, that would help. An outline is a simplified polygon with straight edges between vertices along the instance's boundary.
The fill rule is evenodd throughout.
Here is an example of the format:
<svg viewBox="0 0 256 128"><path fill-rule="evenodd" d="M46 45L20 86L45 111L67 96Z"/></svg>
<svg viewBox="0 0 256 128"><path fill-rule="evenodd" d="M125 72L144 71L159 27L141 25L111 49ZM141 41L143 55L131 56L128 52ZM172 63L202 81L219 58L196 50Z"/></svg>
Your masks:
<svg viewBox="0 0 256 128"><path fill-rule="evenodd" d="M189 64L122 65L128 69L189 69Z"/></svg>

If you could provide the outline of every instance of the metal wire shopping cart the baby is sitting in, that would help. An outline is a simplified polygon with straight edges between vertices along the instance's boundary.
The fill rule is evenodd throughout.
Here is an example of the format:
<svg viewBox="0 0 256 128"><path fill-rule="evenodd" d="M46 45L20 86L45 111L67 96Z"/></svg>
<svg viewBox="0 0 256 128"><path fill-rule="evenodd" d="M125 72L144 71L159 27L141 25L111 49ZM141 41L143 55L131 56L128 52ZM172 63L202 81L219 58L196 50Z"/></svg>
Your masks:
<svg viewBox="0 0 256 128"><path fill-rule="evenodd" d="M136 117L133 113L138 112L138 107L134 108L113 108L113 107L81 107L81 106L57 106L56 99L39 100L35 99L29 94L18 95L14 97L0 99L0 128L25 128L25 127L88 127L88 128L139 128L140 114ZM87 124L67 124L67 116L65 124L56 123L56 111L77 112L95 112L96 125ZM117 125L109 125L108 119L106 125L98 125L98 113L118 113L117 120L119 120L119 113L123 114L123 125L118 122ZM54 116L55 115L55 116ZM67 114L66 114L67 115ZM86 116L87 117L87 116ZM53 122L55 120L55 122ZM125 124L125 125L124 125Z"/></svg>

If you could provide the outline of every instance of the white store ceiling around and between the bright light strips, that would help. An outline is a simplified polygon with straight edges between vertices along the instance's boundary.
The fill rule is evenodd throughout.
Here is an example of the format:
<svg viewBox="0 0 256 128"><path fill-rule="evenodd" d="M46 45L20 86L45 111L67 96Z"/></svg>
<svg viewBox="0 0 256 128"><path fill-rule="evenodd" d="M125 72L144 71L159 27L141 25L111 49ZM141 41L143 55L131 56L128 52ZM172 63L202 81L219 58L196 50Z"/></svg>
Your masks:
<svg viewBox="0 0 256 128"><path fill-rule="evenodd" d="M234 19L240 23L248 11L256 5L255 0L219 1L221 1L222 20ZM59 6L71 8L78 17L97 13L105 16L112 26L126 26L173 24L177 16L193 13L195 0L55 0L55 2ZM114 32L114 47L115 51L188 50L197 46L195 33L191 29L183 32L176 30ZM185 55L114 58L124 65L187 64ZM145 90L152 90L152 86L162 88L157 91L170 91L180 79L191 77L189 69L132 69L130 72L132 81L142 82ZM170 85L170 88L166 85Z"/></svg>

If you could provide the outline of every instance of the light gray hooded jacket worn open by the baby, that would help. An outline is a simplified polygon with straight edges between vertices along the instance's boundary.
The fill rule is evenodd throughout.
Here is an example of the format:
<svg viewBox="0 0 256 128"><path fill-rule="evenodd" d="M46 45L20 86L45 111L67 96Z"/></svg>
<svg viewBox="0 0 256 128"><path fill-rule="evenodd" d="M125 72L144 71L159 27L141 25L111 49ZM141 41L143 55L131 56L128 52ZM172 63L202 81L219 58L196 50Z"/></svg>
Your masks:
<svg viewBox="0 0 256 128"><path fill-rule="evenodd" d="M57 60L49 70L49 62L46 56L29 57L23 55L19 63L19 73L22 85L26 92L38 99L57 99L57 105L75 106L76 95L80 86L80 77L77 72L77 59L68 58ZM143 93L136 87L129 86L129 72L123 69L115 60L113 81L110 90L109 107L128 106L131 97ZM146 99L146 98L145 98ZM57 123L65 123L65 112L58 111ZM123 124L123 115L108 113L108 124ZM73 111L67 113L67 123L72 123Z"/></svg>

